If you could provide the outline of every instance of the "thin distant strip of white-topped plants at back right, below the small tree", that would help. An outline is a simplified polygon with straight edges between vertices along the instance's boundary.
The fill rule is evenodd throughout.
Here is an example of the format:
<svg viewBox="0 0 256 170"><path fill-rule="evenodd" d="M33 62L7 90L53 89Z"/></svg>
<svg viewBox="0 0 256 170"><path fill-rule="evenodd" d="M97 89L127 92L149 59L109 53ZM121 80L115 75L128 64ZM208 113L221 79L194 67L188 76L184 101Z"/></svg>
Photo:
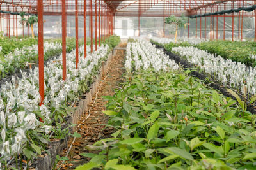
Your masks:
<svg viewBox="0 0 256 170"><path fill-rule="evenodd" d="M151 39L152 39L152 41L155 41L162 45L169 44L169 43L175 43L174 38L170 39L170 38L153 37ZM200 39L200 38L177 37L177 43L187 42L191 45L197 45L199 43L206 42L206 41L209 41L209 40Z"/></svg>

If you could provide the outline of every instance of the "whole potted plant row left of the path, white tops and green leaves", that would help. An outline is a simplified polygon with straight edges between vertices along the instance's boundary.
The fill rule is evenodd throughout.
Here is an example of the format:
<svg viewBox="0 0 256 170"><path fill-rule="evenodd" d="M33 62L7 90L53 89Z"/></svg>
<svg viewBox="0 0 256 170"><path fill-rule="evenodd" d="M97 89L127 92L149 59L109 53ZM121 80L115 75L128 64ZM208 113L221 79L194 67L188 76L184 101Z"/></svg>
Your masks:
<svg viewBox="0 0 256 170"><path fill-rule="evenodd" d="M45 99L38 106L38 67L22 78L7 81L0 93L0 162L5 164L11 157L26 159L27 163L41 154L51 138L63 138L67 129L61 129L65 117L71 114L73 105L79 96L89 90L93 76L97 74L102 61L107 58L109 46L98 46L90 52L87 47L84 59L84 46L79 48L79 64L76 69L76 52L67 53L67 78L62 80L62 56L47 62L44 70ZM95 46L93 45L93 50ZM69 104L68 104L69 103ZM42 122L39 121L42 119ZM60 128L58 128L60 127ZM17 165L18 167L18 165ZM16 168L17 168L16 167Z"/></svg>

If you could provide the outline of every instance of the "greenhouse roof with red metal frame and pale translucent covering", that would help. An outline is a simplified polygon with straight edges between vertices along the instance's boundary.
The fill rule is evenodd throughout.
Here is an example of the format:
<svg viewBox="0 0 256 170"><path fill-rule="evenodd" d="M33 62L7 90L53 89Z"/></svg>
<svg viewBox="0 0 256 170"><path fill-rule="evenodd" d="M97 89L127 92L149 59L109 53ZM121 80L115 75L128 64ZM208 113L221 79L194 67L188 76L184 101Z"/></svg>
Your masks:
<svg viewBox="0 0 256 170"><path fill-rule="evenodd" d="M42 0L44 15L61 15L60 0ZM93 0L97 1L97 0ZM75 15L76 0L66 0L67 15ZM115 16L136 17L165 17L169 15L195 15L198 13L210 13L212 11L230 10L241 6L252 6L255 0L104 0L111 13ZM84 1L78 0L78 13L83 15ZM86 8L89 9L90 0L86 0ZM94 6L94 5L93 5ZM37 14L37 0L1 0L0 10ZM94 13L94 8L93 8ZM94 14L93 14L94 15ZM238 14L237 14L238 15ZM244 14L249 16L249 14Z"/></svg>

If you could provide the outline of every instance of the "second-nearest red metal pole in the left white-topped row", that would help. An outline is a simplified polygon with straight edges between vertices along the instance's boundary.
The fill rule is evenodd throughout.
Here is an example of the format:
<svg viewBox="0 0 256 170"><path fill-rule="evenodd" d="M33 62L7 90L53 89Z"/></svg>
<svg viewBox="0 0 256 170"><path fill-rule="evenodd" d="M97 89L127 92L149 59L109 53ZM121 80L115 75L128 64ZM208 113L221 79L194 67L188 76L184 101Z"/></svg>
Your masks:
<svg viewBox="0 0 256 170"><path fill-rule="evenodd" d="M62 79L65 81L67 76L67 69L66 69L66 24L67 24L67 17L66 17L66 0L61 0L61 20L62 20Z"/></svg>

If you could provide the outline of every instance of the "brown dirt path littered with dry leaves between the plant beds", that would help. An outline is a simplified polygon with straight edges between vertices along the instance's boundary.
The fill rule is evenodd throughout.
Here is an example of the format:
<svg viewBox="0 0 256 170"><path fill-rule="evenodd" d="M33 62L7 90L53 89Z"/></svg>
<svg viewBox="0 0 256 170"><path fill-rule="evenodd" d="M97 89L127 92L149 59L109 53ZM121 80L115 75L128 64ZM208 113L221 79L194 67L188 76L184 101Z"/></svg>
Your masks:
<svg viewBox="0 0 256 170"><path fill-rule="evenodd" d="M125 47L126 44L119 45L120 47ZM97 99L95 104L91 109L90 117L80 125L77 129L77 132L81 134L81 138L76 138L76 141L73 143L72 149L68 154L68 159L71 161L70 163L63 164L61 169L75 169L77 166L88 162L89 159L81 157L79 153L93 153L89 152L84 148L86 145L92 145L96 141L100 139L109 138L111 134L115 132L114 129L109 127L105 127L102 124L107 124L108 117L102 113L102 111L106 110L105 104L107 101L102 98L102 96L113 96L114 89L116 86L120 85L123 81L122 74L124 74L124 53L118 52L117 55L113 56L111 63L109 64L108 71L104 75L105 80L102 82L102 85L99 89L99 94L97 94ZM103 78L104 79L104 78ZM95 99L95 95L93 96L93 101ZM89 107L93 104L90 103ZM88 112L86 112L81 118L79 124L83 122L83 120L88 116ZM73 139L70 140L70 143ZM68 145L68 148L70 144ZM60 157L65 156L67 150L64 150L61 153ZM94 152L95 153L95 152Z"/></svg>

